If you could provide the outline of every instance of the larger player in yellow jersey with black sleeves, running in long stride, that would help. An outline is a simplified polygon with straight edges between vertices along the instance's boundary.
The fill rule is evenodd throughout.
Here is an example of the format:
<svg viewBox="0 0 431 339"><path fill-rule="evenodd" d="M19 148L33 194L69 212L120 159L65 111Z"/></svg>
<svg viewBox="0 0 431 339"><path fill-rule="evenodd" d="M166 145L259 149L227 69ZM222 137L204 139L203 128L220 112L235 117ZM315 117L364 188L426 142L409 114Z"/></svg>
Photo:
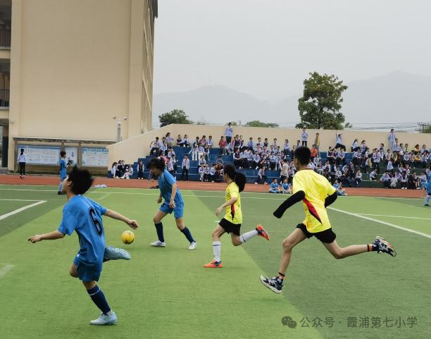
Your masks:
<svg viewBox="0 0 431 339"><path fill-rule="evenodd" d="M282 291L282 282L287 266L289 266L290 257L292 257L292 249L306 238L315 236L335 259L370 251L387 253L392 257L396 256L394 247L381 237L376 237L375 241L368 245L339 247L326 212L326 207L337 199L337 192L323 175L308 168L310 155L310 149L307 147L298 147L295 150L294 165L298 172L293 178L294 194L274 212L274 216L281 218L286 209L296 202L302 201L306 214L306 219L296 226L296 229L282 242L282 260L278 276L273 278L260 277L263 285L275 293Z"/></svg>

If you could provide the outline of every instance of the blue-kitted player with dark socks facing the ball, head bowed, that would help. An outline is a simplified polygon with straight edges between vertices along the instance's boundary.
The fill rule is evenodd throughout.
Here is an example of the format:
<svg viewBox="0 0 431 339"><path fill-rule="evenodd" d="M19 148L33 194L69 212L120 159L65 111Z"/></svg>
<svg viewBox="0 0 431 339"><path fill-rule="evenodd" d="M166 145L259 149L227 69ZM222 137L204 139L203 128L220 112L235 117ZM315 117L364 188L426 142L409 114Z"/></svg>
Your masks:
<svg viewBox="0 0 431 339"><path fill-rule="evenodd" d="M160 195L157 199L158 204L162 202L162 198L165 200L153 218L158 240L151 242L150 245L154 247L166 246L165 238L163 237L163 223L161 221L166 214L171 214L173 212L177 228L190 242L189 249L196 249L196 241L194 241L192 233L190 233L189 228L185 226L182 219L182 216L184 215L184 200L182 199L181 192L177 187L177 180L175 180L173 175L165 170L165 161L163 161L163 159L151 159L146 165L146 168L158 177L158 188L160 189Z"/></svg>

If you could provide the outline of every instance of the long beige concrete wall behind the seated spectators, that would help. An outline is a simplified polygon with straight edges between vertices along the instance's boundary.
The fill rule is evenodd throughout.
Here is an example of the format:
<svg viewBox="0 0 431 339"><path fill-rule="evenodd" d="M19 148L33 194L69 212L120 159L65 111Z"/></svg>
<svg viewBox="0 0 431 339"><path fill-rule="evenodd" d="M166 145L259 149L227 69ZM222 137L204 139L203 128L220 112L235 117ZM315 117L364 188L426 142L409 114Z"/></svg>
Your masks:
<svg viewBox="0 0 431 339"><path fill-rule="evenodd" d="M293 128L254 128L254 127L237 127L232 126L234 136L236 134L243 135L245 140L249 140L249 137L253 137L257 140L258 137L268 137L271 142L274 137L277 138L279 144L284 144L285 139L289 139L291 147L296 143L296 140L300 140L302 130ZM176 139L178 134L188 135L189 140L194 140L195 137L202 135L212 135L214 144L217 145L221 135L225 135L225 127L215 125L168 125L158 130L152 130L144 135L133 137L130 140L112 144L108 147L110 163L124 159L128 163L136 161L138 157L146 156L149 154L149 144L156 137L164 137L167 132ZM308 146L311 147L313 144L316 132L320 133L320 151L326 151L329 146L335 146L335 130L308 130ZM380 146L383 142L385 147L389 145L387 132L367 132L357 130L344 130L341 131L343 135L343 142L346 145L347 151L350 152L350 146L355 138L358 138L359 142L366 140L368 147L373 149L374 147ZM396 133L399 142L408 143L410 147L415 144L427 144L427 147L431 147L431 135L420 134L420 133Z"/></svg>

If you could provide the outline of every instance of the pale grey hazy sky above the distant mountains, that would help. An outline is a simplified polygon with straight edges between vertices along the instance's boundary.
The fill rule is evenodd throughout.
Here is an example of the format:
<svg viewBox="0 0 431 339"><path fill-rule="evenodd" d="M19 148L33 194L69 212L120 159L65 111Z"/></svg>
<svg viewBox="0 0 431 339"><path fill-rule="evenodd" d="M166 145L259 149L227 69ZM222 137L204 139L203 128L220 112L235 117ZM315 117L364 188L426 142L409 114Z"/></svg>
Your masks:
<svg viewBox="0 0 431 339"><path fill-rule="evenodd" d="M428 0L159 0L154 94L225 85L280 99L313 70L431 75L430 14Z"/></svg>

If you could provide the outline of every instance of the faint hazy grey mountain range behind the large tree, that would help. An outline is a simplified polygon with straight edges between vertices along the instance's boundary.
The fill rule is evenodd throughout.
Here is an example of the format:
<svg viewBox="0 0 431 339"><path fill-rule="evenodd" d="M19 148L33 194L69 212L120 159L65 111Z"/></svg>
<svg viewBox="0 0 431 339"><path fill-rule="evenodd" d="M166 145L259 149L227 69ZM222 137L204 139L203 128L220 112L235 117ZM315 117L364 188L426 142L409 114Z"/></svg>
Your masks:
<svg viewBox="0 0 431 339"><path fill-rule="evenodd" d="M431 121L431 77L394 72L346 85L342 112L353 123ZM193 121L226 123L261 120L282 125L299 121L301 94L270 103L222 85L154 96L153 121L172 109L183 109Z"/></svg>

